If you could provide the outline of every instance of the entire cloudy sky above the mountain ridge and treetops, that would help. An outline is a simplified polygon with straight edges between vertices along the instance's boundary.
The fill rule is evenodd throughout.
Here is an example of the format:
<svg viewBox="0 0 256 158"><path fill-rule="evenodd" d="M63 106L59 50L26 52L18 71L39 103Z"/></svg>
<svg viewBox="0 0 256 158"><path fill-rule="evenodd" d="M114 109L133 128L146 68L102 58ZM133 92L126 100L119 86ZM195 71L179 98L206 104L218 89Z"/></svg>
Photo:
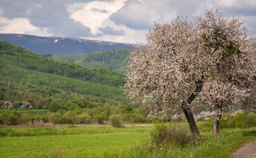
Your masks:
<svg viewBox="0 0 256 158"><path fill-rule="evenodd" d="M216 8L256 35L256 0L0 0L0 33L146 42L154 22Z"/></svg>

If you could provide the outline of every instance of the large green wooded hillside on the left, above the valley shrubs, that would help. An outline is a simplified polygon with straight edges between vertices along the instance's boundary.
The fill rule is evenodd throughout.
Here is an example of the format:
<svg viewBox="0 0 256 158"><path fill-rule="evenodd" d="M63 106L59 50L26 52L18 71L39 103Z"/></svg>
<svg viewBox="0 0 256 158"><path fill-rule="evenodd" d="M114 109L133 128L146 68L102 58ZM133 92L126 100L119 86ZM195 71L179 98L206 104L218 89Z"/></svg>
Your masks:
<svg viewBox="0 0 256 158"><path fill-rule="evenodd" d="M0 42L0 101L28 101L34 107L42 105L40 100L46 104L56 98L121 102L127 100L121 89L124 83L125 76L117 72L43 58Z"/></svg>

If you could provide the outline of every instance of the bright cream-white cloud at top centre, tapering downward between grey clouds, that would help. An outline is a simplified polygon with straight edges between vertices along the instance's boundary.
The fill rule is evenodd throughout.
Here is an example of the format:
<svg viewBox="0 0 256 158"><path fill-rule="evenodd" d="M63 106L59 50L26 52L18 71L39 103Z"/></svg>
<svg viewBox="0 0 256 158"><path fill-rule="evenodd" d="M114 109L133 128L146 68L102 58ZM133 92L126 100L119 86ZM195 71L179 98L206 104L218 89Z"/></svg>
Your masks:
<svg viewBox="0 0 256 158"><path fill-rule="evenodd" d="M67 5L67 11L71 12L70 18L75 21L90 27L91 33L96 35L100 32L103 21L121 9L125 5L126 0L112 0L112 1L92 1L89 3L71 4ZM82 9L74 11L75 8L81 7Z"/></svg>

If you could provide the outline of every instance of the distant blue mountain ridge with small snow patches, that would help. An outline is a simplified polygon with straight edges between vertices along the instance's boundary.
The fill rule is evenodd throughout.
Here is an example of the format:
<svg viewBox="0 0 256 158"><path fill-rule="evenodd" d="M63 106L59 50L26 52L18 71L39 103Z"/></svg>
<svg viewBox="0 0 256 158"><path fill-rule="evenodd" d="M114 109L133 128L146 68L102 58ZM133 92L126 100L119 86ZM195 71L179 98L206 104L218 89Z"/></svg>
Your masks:
<svg viewBox="0 0 256 158"><path fill-rule="evenodd" d="M102 42L77 37L39 37L36 35L23 35L0 33L0 41L9 42L32 50L37 54L82 54L101 50L121 48L134 48L133 44L116 42Z"/></svg>

